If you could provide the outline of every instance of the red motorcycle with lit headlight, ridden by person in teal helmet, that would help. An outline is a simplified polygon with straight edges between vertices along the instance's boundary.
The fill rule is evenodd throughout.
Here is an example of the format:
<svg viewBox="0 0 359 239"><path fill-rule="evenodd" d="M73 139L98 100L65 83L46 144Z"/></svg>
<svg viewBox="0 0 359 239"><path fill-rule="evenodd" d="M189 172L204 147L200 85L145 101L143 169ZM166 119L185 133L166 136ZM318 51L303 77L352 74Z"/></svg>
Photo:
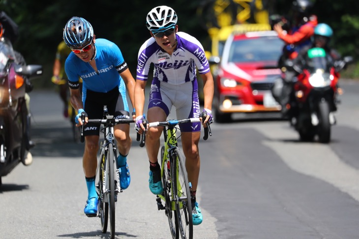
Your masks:
<svg viewBox="0 0 359 239"><path fill-rule="evenodd" d="M333 61L322 48L308 50L303 67L286 63L299 75L294 78L290 122L298 131L301 141L313 141L315 135L321 143L329 143L331 125L336 124L339 72L353 61L346 56Z"/></svg>

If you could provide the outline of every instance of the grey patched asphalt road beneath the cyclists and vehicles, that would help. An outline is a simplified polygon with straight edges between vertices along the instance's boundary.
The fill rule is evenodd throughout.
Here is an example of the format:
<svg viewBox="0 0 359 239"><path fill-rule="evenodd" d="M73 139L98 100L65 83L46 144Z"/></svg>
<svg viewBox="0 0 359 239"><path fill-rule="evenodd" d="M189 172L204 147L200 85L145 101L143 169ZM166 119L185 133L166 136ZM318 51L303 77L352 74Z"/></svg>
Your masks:
<svg viewBox="0 0 359 239"><path fill-rule="evenodd" d="M213 136L200 142L204 222L194 238L359 238L359 84L341 86L330 144L299 142L288 122L275 119L212 125ZM60 98L30 96L34 161L2 178L0 238L108 238L100 220L83 213L84 145L72 141ZM132 128L131 137L131 185L117 203L116 238L168 239L167 218L148 188L146 150Z"/></svg>

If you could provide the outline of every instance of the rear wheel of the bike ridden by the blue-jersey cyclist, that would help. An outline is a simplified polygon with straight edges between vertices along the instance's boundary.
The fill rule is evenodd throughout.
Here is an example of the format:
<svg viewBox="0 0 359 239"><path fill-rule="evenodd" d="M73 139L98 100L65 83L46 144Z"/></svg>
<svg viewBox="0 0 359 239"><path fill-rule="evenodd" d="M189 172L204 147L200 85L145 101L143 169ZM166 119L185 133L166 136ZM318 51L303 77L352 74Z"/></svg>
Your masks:
<svg viewBox="0 0 359 239"><path fill-rule="evenodd" d="M105 154L100 155L100 167L98 169L99 181L98 181L98 195L99 195L99 202L98 202L98 212L101 219L101 230L102 233L107 232L107 223L109 218L109 204L105 202L104 193L103 193L103 182L104 182L104 169L105 169L105 162L106 156Z"/></svg>

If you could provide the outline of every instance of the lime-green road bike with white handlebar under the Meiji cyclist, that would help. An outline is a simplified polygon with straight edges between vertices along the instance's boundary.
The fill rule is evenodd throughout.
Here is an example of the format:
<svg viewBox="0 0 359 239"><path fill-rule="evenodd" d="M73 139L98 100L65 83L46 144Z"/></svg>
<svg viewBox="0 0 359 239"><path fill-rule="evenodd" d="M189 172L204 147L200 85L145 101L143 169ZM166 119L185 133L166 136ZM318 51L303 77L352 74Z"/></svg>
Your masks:
<svg viewBox="0 0 359 239"><path fill-rule="evenodd" d="M203 119L206 118L203 115ZM144 122L145 128L163 126L164 145L161 147L161 177L163 193L156 196L158 210L165 210L170 225L173 239L192 239L192 205L191 205L191 182L188 182L185 167L185 158L178 146L176 135L179 131L179 124L187 122L201 122L199 118L188 118L182 120L168 120L164 122ZM204 139L207 140L208 134L211 135L209 124L205 129ZM145 145L145 133L137 134L137 141L140 146ZM162 201L165 203L163 206Z"/></svg>

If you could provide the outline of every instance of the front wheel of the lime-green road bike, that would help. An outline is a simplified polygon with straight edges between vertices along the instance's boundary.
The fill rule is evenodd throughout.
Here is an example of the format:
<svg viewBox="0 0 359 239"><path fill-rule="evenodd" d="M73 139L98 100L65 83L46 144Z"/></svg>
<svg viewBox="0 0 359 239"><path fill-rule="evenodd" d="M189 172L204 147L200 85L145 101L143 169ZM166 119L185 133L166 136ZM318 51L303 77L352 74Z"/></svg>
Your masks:
<svg viewBox="0 0 359 239"><path fill-rule="evenodd" d="M172 159L175 159L171 168L173 190L175 194L176 216L178 219L179 234L182 239L192 239L193 221L191 193L189 191L187 171L184 157L178 148L172 153Z"/></svg>

